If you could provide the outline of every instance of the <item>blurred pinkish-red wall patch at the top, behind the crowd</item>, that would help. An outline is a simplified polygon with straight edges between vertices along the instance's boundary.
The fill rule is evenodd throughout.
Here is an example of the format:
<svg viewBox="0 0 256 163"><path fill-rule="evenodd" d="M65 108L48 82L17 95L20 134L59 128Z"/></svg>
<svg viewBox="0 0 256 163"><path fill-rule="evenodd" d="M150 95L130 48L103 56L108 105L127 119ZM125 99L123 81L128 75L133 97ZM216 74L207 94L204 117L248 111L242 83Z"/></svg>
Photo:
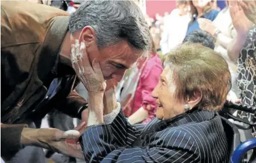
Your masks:
<svg viewBox="0 0 256 163"><path fill-rule="evenodd" d="M146 13L155 19L156 13L164 15L164 12L171 12L176 8L176 1L147 1L146 0Z"/></svg>

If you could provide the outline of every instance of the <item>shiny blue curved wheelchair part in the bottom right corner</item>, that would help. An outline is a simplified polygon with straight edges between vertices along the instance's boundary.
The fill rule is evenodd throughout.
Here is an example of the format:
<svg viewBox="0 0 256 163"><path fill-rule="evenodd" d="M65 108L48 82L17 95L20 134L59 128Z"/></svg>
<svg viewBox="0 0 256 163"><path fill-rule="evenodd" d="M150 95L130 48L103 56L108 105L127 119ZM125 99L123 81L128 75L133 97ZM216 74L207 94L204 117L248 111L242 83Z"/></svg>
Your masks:
<svg viewBox="0 0 256 163"><path fill-rule="evenodd" d="M243 155L247 153L248 150L256 148L256 138L248 139L241 143L232 155L232 163L239 163L241 162Z"/></svg>

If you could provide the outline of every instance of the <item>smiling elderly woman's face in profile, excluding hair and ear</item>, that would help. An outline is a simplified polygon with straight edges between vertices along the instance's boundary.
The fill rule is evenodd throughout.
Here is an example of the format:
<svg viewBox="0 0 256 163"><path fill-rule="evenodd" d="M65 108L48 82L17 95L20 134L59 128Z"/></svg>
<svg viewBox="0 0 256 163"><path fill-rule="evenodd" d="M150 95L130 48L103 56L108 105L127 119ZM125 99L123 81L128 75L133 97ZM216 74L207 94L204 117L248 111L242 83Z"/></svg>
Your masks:
<svg viewBox="0 0 256 163"><path fill-rule="evenodd" d="M156 98L156 117L158 119L170 119L184 112L185 102L174 97L175 91L173 70L166 66L160 75L159 83L152 92L152 96Z"/></svg>

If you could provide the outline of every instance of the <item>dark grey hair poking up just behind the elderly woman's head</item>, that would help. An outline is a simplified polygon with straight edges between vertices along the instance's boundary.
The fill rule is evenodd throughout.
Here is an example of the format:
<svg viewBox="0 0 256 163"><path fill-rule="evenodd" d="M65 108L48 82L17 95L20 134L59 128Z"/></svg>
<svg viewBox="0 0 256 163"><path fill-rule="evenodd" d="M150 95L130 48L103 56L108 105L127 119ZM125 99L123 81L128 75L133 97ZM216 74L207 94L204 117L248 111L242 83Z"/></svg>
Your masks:
<svg viewBox="0 0 256 163"><path fill-rule="evenodd" d="M211 49L215 48L215 38L212 37L211 34L203 30L192 31L184 38L183 43L185 42L199 43L202 44L204 47L208 47Z"/></svg>

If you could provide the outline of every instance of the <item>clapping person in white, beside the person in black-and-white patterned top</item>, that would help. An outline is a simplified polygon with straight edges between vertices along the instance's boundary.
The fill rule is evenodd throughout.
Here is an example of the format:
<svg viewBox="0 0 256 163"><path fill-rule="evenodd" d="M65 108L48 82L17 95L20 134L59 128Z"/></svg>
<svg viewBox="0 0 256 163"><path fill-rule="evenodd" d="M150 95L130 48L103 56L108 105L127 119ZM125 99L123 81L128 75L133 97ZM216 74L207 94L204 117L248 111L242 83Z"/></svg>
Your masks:
<svg viewBox="0 0 256 163"><path fill-rule="evenodd" d="M226 1L226 3L226 8L219 12L215 20L211 21L209 19L199 18L198 23L201 30L207 31L209 34L216 37L214 50L219 52L219 54L226 59L232 76L232 89L229 92L229 98L227 100L237 102L239 97L239 90L236 84L237 62L231 61L227 55L227 45L229 45L236 36L236 29L234 29L230 17L229 1Z"/></svg>

